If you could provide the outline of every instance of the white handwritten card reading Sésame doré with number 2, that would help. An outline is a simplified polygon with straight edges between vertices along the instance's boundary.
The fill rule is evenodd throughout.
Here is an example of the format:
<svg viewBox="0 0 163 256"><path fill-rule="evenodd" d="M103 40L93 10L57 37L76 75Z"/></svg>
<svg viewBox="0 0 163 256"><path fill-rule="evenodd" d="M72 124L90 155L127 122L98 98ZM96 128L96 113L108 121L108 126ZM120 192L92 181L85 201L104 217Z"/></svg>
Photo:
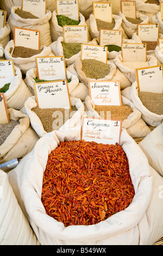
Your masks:
<svg viewBox="0 0 163 256"><path fill-rule="evenodd" d="M89 81L89 95L95 105L122 105L119 81Z"/></svg>

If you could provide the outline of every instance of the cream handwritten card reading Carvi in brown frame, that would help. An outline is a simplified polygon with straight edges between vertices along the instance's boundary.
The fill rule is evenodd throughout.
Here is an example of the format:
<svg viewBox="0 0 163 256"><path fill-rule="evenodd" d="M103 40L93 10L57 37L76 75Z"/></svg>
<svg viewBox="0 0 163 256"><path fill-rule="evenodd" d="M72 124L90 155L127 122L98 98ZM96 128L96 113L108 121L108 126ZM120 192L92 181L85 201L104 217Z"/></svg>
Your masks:
<svg viewBox="0 0 163 256"><path fill-rule="evenodd" d="M40 50L40 31L26 28L14 28L15 46L23 46L34 50Z"/></svg>

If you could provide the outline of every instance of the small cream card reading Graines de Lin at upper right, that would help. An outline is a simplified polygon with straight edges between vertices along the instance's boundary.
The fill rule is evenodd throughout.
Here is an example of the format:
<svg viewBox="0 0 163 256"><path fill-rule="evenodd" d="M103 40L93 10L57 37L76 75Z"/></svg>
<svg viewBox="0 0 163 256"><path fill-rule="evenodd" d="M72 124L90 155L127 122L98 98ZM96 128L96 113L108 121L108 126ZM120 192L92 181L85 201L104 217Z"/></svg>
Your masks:
<svg viewBox="0 0 163 256"><path fill-rule="evenodd" d="M158 24L137 24L137 35L142 41L158 41L159 25Z"/></svg>

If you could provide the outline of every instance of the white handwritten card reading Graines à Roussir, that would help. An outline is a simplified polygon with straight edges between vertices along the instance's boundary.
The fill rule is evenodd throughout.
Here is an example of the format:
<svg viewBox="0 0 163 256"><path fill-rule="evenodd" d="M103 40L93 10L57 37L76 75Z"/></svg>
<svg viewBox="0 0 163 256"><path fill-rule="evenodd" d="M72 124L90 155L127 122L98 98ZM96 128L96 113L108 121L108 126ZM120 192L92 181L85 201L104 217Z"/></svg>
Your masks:
<svg viewBox="0 0 163 256"><path fill-rule="evenodd" d="M67 80L34 83L34 89L37 107L71 109Z"/></svg>

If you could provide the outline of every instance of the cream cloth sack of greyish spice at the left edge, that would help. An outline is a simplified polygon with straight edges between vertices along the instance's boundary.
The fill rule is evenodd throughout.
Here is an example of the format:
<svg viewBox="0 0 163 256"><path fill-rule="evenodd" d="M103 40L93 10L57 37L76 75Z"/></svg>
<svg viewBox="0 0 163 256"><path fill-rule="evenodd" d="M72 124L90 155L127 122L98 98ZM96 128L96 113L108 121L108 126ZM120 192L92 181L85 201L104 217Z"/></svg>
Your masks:
<svg viewBox="0 0 163 256"><path fill-rule="evenodd" d="M10 120L19 121L20 124L14 127L4 143L0 145L0 163L24 157L39 139L30 127L28 115L14 108L9 108L8 114Z"/></svg>

